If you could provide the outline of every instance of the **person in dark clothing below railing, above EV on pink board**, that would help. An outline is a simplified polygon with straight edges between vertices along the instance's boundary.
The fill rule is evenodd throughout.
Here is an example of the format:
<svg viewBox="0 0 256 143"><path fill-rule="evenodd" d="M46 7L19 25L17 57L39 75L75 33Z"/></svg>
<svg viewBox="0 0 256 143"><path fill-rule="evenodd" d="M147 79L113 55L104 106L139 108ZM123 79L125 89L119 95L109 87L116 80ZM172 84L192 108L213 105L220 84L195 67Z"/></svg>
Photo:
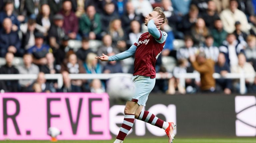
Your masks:
<svg viewBox="0 0 256 143"><path fill-rule="evenodd" d="M58 89L57 92L81 92L81 88L79 86L75 86L71 83L71 79L69 78L69 73L67 71L63 71L63 86L61 89Z"/></svg>

